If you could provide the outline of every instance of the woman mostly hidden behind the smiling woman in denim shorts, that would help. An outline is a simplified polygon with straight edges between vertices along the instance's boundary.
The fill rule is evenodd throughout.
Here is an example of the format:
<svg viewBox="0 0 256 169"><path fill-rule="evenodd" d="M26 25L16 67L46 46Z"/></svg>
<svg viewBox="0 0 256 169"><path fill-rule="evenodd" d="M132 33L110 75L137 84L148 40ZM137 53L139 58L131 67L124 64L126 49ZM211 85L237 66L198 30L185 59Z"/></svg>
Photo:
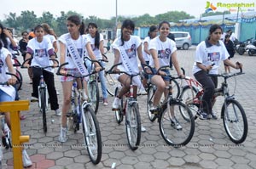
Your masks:
<svg viewBox="0 0 256 169"><path fill-rule="evenodd" d="M149 27L148 37L145 37L145 39L143 41L143 58L147 65L149 65L150 59L152 59L152 56L149 52L149 43L152 39L154 39L154 37L157 36L157 32L158 32L157 27L155 25L151 25ZM144 75L144 78L143 78L143 86L144 87L146 87L147 81L148 81L148 75Z"/></svg>

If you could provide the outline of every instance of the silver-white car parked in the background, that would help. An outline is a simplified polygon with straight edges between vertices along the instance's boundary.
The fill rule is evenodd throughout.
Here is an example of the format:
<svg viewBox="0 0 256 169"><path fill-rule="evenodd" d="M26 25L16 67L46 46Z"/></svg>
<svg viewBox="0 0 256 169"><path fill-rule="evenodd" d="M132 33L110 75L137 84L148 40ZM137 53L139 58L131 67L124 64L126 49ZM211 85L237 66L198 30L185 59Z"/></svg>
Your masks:
<svg viewBox="0 0 256 169"><path fill-rule="evenodd" d="M191 47L191 37L189 32L187 31L172 31L171 32L175 37L176 47L177 49L183 48L184 50L188 50Z"/></svg>

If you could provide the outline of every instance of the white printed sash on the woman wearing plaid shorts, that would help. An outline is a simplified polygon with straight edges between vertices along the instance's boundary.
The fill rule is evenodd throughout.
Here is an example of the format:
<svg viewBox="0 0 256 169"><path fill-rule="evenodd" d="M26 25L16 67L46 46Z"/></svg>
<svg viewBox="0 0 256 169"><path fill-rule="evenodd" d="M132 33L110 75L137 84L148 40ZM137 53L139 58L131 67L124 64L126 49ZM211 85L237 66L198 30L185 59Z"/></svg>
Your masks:
<svg viewBox="0 0 256 169"><path fill-rule="evenodd" d="M71 55L71 58L73 59L74 65L76 65L81 75L88 75L88 70L84 66L84 61L80 57L78 49L75 48L75 45L71 37L67 37L66 42L67 49L69 51L69 54ZM82 54L84 54L84 49L82 51Z"/></svg>

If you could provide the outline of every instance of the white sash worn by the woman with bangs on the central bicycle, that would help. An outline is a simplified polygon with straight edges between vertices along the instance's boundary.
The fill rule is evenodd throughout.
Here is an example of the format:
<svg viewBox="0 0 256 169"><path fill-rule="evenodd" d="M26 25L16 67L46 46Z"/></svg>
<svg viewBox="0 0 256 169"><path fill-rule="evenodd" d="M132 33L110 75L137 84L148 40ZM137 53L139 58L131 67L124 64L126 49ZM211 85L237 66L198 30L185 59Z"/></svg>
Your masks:
<svg viewBox="0 0 256 169"><path fill-rule="evenodd" d="M129 64L129 57L127 56L125 52L125 48L119 47L119 52L120 52L120 58L122 60L122 65L125 67L125 71L130 72L130 74L134 73L134 71L131 69L131 65ZM145 88L143 87L143 83L140 79L139 76L134 76L132 78L132 82L137 85L140 90L144 91Z"/></svg>

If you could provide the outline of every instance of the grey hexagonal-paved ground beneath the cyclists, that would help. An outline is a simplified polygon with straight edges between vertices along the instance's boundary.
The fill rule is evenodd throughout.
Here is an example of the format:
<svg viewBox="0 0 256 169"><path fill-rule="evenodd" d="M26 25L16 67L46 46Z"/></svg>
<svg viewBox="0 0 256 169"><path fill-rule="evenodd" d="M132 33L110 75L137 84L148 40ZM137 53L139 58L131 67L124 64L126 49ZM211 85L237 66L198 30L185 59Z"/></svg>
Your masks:
<svg viewBox="0 0 256 169"><path fill-rule="evenodd" d="M195 48L188 51L178 50L177 56L180 65L185 68L187 75L191 76L191 67ZM109 59L113 59L113 54L108 54ZM195 134L189 144L182 148L172 148L167 146L157 122L148 121L146 115L146 97L139 100L140 113L143 126L147 132L142 134L142 146L136 151L128 148L125 124L118 125L115 122L113 111L111 110L112 97L109 97L108 106L100 104L97 114L102 132L102 161L94 166L90 162L87 151L80 147L83 144L81 131L74 134L68 132L68 141L60 144L58 135L60 131L60 118L55 116L54 111L49 110L48 125L49 131L44 134L42 125L42 115L38 111L38 104L31 103L30 110L22 112L26 115L26 120L21 121L22 134L30 135L30 142L27 144L27 152L34 162L32 168L255 168L256 167L256 57L247 55L235 55L232 61L239 60L244 64L244 76L236 79L236 98L243 105L247 114L248 134L246 141L241 145L233 144L224 131L223 122L218 121L196 121ZM113 63L113 62L111 62ZM223 67L220 69L223 70ZM21 70L24 75L24 83L20 91L21 99L29 99L32 86L26 70ZM61 83L56 76L56 87L61 93ZM230 81L230 87L234 85L234 80ZM222 99L218 99L214 110L220 112ZM62 95L59 95L59 103L62 104ZM4 150L3 158L7 163L7 168L12 168L12 153Z"/></svg>

